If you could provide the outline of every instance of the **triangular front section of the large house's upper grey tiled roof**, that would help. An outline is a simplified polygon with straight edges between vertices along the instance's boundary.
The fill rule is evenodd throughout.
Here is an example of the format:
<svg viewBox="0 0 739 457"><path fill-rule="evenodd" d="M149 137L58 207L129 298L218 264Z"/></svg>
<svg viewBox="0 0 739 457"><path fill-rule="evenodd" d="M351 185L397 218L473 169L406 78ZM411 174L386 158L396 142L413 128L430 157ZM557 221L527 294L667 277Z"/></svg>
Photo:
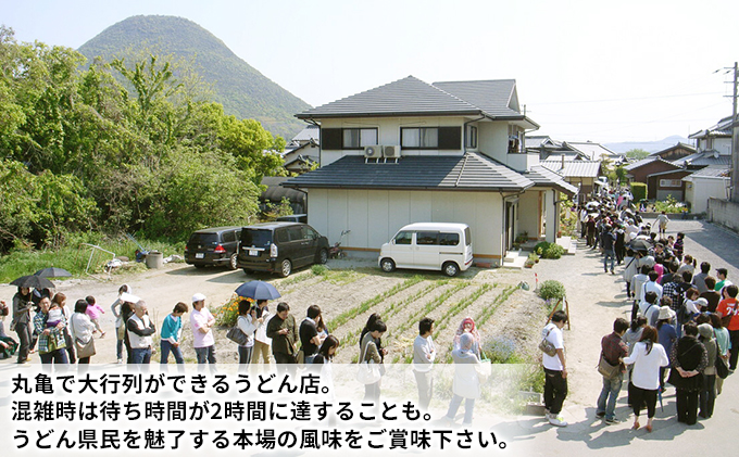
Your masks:
<svg viewBox="0 0 739 457"><path fill-rule="evenodd" d="M299 118L399 116L411 114L478 114L480 109L409 76L335 102L306 110Z"/></svg>

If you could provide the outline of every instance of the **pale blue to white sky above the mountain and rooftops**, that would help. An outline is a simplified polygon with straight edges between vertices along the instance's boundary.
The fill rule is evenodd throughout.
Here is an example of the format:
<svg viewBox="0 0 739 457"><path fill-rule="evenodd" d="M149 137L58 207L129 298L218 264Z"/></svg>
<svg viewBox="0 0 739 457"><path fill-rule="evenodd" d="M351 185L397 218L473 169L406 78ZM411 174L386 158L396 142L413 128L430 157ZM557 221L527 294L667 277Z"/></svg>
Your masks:
<svg viewBox="0 0 739 457"><path fill-rule="evenodd" d="M78 48L137 14L189 18L320 105L414 75L515 78L534 135L660 140L731 114L739 2L0 0L21 41ZM734 52L734 54L732 54Z"/></svg>

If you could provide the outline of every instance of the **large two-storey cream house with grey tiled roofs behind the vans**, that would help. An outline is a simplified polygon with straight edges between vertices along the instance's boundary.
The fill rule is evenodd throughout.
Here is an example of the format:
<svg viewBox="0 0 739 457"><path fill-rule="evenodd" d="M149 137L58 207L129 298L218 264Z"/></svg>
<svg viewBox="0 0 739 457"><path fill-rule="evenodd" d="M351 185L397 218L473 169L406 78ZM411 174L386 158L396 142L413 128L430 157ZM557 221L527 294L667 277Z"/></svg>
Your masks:
<svg viewBox="0 0 739 457"><path fill-rule="evenodd" d="M475 259L500 265L523 231L555 241L560 192L576 192L525 152L539 126L513 79L409 76L297 117L321 125L321 168L284 186L308 192L309 224L330 242L351 230L342 249L358 254L410 223L464 223Z"/></svg>

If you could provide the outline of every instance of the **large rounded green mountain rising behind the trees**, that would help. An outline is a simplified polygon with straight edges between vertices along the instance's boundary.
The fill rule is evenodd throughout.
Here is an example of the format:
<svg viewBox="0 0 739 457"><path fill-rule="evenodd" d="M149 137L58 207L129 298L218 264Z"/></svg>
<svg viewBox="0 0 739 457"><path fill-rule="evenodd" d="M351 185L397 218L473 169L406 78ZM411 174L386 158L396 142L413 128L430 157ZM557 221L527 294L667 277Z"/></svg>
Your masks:
<svg viewBox="0 0 739 457"><path fill-rule="evenodd" d="M254 45L256 46L256 45ZM304 124L293 117L311 107L254 67L192 21L174 16L133 16L112 25L79 48L88 61L107 62L126 52L152 49L193 61L202 79L212 85L213 100L226 114L255 118L273 135L289 140Z"/></svg>

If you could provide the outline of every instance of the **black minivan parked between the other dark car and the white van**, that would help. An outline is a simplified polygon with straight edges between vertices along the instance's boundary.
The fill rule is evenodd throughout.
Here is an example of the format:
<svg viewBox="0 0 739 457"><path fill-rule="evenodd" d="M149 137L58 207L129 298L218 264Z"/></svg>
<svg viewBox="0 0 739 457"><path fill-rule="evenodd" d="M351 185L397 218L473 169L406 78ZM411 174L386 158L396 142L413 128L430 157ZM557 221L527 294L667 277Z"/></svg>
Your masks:
<svg viewBox="0 0 739 457"><path fill-rule="evenodd" d="M287 277L293 268L325 264L328 239L308 224L264 223L241 229L238 268Z"/></svg>

